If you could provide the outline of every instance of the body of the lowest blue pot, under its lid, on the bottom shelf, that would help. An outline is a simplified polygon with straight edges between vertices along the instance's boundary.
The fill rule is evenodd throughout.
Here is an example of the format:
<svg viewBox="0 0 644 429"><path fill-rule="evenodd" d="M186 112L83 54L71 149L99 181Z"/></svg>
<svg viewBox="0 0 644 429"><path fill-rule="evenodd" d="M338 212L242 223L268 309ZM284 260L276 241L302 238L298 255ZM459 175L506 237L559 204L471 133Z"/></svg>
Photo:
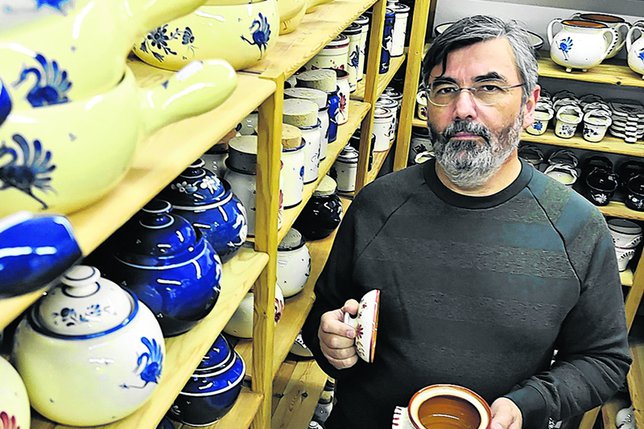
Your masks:
<svg viewBox="0 0 644 429"><path fill-rule="evenodd" d="M192 426L207 426L230 411L241 392L244 360L232 352L225 365L193 374L170 408L169 416Z"/></svg>

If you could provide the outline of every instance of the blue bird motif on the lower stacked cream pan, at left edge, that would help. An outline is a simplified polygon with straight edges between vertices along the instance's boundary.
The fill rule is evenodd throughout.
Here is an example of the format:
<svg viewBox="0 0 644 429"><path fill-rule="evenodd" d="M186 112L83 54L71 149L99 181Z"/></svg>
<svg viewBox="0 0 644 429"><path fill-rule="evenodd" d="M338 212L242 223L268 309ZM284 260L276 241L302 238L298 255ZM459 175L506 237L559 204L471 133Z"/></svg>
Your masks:
<svg viewBox="0 0 644 429"><path fill-rule="evenodd" d="M29 143L20 134L14 134L12 138L18 145L17 151L8 147L5 142L0 145L0 161L6 156L11 158L4 165L0 165L0 191L17 189L38 201L45 210L49 206L34 195L34 190L53 190L51 173L56 166L51 162L51 151L45 150L40 140Z"/></svg>

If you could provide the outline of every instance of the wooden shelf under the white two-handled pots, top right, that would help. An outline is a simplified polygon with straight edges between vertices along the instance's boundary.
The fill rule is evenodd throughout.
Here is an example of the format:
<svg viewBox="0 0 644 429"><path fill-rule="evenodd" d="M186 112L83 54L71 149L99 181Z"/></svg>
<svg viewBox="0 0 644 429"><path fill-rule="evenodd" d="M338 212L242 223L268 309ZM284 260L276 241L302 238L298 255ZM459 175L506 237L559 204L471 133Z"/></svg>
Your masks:
<svg viewBox="0 0 644 429"><path fill-rule="evenodd" d="M555 64L550 59L548 53L544 55L548 56L538 60L539 76L541 77L644 88L642 76L631 70L624 60L609 60L609 63L600 64L587 72L573 70L573 72L567 73L562 66Z"/></svg>

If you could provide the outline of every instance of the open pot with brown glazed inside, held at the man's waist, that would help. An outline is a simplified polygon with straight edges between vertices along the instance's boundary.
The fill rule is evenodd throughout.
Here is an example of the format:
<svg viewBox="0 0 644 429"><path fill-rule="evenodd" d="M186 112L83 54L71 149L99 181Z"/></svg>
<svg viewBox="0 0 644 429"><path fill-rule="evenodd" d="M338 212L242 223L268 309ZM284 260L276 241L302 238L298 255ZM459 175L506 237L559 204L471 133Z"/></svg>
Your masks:
<svg viewBox="0 0 644 429"><path fill-rule="evenodd" d="M415 429L489 429L490 406L477 393L453 384L434 384L412 396L407 406Z"/></svg>

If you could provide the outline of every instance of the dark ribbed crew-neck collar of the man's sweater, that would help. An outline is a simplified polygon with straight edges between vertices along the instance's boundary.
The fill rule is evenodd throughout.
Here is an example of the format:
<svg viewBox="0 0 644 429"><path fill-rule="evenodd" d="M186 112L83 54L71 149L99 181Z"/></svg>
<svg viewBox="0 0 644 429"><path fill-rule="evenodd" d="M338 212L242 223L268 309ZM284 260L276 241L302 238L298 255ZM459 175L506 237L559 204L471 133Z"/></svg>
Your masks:
<svg viewBox="0 0 644 429"><path fill-rule="evenodd" d="M490 207L498 206L510 200L517 195L532 179L533 170L530 165L525 161L521 161L521 172L519 176L505 189L497 192L496 194L487 195L485 197L475 197L471 195L463 195L452 191L440 181L436 175L436 160L431 159L425 162L424 175L425 181L429 188L441 200L452 206L466 208L466 209L487 209Z"/></svg>

